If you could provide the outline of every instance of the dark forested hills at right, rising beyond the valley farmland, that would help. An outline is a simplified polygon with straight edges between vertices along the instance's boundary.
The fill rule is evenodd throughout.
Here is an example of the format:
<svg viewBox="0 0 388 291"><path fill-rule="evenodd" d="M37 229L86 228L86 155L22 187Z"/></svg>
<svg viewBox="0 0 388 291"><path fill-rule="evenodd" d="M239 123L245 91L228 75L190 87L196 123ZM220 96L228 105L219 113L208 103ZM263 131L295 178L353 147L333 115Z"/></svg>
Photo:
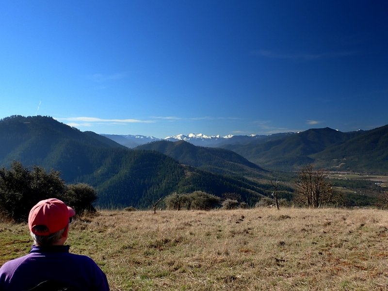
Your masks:
<svg viewBox="0 0 388 291"><path fill-rule="evenodd" d="M263 167L282 171L312 163L327 170L388 173L388 125L353 132L308 129L271 141L225 148Z"/></svg>

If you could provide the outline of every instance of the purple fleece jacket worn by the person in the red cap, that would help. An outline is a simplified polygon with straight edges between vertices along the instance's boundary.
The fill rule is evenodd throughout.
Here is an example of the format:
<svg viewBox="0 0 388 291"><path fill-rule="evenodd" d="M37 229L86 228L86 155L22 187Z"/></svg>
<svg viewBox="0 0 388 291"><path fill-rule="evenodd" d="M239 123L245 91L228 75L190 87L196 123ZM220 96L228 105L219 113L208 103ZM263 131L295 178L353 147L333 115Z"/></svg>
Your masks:
<svg viewBox="0 0 388 291"><path fill-rule="evenodd" d="M56 280L79 290L109 291L106 275L93 259L69 253L70 246L40 248L6 262L0 268L0 291L24 291L46 280Z"/></svg>

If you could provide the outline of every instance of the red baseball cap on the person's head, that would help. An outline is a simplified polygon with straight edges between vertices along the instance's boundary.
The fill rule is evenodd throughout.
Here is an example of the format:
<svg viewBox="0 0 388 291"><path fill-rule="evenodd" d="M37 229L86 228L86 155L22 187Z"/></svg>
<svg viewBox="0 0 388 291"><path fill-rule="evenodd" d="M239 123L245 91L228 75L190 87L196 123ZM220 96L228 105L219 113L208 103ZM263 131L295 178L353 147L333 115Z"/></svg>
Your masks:
<svg viewBox="0 0 388 291"><path fill-rule="evenodd" d="M65 228L69 224L69 218L75 214L76 211L61 200L55 198L42 200L32 207L28 216L28 227L36 235L49 235ZM34 226L47 226L49 230L39 232Z"/></svg>

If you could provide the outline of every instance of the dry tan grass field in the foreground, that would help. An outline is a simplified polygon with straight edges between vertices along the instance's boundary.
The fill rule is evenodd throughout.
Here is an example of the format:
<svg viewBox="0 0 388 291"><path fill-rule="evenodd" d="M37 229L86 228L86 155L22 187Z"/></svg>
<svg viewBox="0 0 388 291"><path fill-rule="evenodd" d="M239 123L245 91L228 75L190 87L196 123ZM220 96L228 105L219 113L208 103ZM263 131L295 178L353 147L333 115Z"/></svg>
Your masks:
<svg viewBox="0 0 388 291"><path fill-rule="evenodd" d="M388 290L383 210L100 211L70 231L115 291ZM0 264L30 244L0 223Z"/></svg>

